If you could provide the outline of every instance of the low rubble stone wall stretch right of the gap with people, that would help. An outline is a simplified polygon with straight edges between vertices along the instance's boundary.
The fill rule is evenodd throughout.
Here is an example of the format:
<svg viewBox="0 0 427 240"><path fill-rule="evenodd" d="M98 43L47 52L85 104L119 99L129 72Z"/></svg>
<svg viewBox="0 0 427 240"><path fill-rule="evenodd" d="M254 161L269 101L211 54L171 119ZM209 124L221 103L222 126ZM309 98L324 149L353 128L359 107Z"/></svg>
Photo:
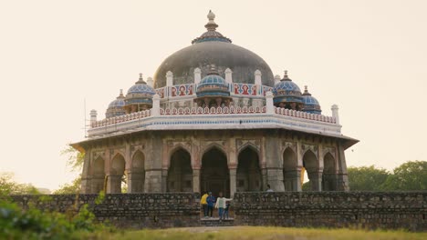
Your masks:
<svg viewBox="0 0 427 240"><path fill-rule="evenodd" d="M427 231L427 192L236 193L234 225Z"/></svg>

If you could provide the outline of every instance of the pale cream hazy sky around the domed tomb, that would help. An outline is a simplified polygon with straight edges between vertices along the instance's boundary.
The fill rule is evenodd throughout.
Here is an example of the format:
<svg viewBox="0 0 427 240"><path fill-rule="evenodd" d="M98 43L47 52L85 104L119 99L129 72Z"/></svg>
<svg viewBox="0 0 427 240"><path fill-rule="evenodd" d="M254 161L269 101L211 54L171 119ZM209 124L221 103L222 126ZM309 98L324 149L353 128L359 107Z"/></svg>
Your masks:
<svg viewBox="0 0 427 240"><path fill-rule="evenodd" d="M0 172L55 189L86 113L218 31L308 85L360 143L348 165L427 160L427 1L0 1Z"/></svg>

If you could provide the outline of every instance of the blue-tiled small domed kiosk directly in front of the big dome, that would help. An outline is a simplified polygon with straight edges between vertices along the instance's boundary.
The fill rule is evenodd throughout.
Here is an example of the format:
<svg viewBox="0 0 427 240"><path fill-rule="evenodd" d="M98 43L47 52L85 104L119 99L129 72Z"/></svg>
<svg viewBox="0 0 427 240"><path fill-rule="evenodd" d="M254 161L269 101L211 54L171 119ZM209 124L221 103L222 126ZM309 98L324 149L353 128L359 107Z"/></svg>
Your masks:
<svg viewBox="0 0 427 240"><path fill-rule="evenodd" d="M197 85L196 91L197 97L200 96L229 96L230 91L228 90L228 84L225 79L218 75L214 66L211 68L211 72L203 77L199 85Z"/></svg>

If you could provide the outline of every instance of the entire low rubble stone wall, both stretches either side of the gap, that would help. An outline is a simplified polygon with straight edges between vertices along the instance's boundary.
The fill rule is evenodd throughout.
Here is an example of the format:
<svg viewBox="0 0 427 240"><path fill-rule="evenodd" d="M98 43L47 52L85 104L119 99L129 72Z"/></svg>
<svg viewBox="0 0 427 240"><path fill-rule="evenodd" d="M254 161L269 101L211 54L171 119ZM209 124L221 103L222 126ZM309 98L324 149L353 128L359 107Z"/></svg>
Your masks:
<svg viewBox="0 0 427 240"><path fill-rule="evenodd" d="M127 228L198 226L200 195L193 193L16 195L20 205L75 211L88 204L99 221ZM43 200L44 199L44 200ZM427 231L427 192L236 193L234 225L404 228Z"/></svg>

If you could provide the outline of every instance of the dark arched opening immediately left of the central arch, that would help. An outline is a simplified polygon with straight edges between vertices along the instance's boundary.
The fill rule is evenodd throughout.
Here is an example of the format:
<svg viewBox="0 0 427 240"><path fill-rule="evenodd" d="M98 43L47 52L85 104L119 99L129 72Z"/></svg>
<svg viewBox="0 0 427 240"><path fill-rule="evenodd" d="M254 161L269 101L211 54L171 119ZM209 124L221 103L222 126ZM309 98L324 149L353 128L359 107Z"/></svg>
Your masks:
<svg viewBox="0 0 427 240"><path fill-rule="evenodd" d="M171 156L167 178L168 192L193 192L193 169L191 155L180 148Z"/></svg>

